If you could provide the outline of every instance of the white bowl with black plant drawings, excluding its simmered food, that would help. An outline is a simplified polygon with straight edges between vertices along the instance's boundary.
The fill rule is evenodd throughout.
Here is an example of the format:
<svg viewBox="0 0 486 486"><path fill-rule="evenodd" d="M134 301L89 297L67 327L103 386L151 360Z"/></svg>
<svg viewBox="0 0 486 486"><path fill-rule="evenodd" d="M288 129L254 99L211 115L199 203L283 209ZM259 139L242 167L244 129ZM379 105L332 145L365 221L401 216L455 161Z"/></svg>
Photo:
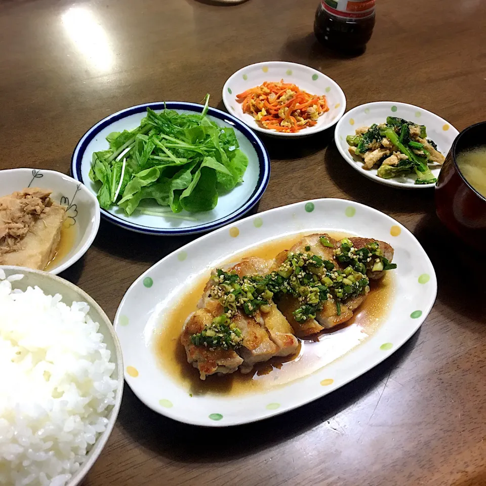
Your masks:
<svg viewBox="0 0 486 486"><path fill-rule="evenodd" d="M43 169L0 171L0 196L25 187L52 190L54 202L67 206L65 225L74 231L73 245L66 255L54 260L49 273L57 275L77 262L93 243L100 226L98 199L86 186L60 172Z"/></svg>

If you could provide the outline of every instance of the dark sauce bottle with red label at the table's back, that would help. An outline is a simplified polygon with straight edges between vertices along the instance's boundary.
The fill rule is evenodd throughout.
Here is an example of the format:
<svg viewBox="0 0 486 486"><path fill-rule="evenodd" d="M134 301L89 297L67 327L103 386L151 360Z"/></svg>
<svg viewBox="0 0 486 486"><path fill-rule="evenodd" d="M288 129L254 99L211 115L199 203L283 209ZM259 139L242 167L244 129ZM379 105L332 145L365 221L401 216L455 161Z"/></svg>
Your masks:
<svg viewBox="0 0 486 486"><path fill-rule="evenodd" d="M375 26L375 0L321 0L314 33L321 44L344 53L359 54Z"/></svg>

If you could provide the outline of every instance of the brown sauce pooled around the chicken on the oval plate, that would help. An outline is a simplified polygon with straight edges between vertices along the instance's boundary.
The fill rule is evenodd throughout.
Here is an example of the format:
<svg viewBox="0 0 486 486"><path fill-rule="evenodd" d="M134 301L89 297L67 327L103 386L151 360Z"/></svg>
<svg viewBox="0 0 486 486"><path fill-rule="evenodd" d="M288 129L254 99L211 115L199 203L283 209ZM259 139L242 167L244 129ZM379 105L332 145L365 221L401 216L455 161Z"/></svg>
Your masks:
<svg viewBox="0 0 486 486"><path fill-rule="evenodd" d="M239 259L249 256L274 258L279 252L288 250L306 234L309 233L294 234L268 242L245 251L225 263L236 263ZM330 234L336 239L353 236L343 233ZM259 363L251 373L246 375L237 371L225 376L208 376L205 381L202 381L199 379L198 370L187 362L180 335L188 315L196 309L209 277L209 273L201 277L197 284L181 297L172 311L161 318L153 340L159 366L192 395L208 393L237 395L261 392L310 375L370 337L386 318L393 300L393 275L387 273L381 280L371 281L368 298L357 309L351 320L344 325L324 331L313 340L300 340L300 349L296 355L272 358Z"/></svg>

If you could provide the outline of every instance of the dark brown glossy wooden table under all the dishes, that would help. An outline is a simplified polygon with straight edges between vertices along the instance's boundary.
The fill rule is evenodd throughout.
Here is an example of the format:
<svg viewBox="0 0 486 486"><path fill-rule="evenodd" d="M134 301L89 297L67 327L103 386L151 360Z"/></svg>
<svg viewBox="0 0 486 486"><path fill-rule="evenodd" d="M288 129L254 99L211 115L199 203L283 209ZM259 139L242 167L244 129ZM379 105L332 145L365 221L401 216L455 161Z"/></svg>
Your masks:
<svg viewBox="0 0 486 486"><path fill-rule="evenodd" d="M486 118L486 2L379 0L373 38L358 58L315 42L317 3L4 0L0 168L68 173L77 141L104 116L148 101L199 102L207 92L221 108L226 78L265 60L320 69L341 85L348 108L409 102L459 130ZM365 376L262 423L185 426L151 412L126 387L85 486L486 484L486 273L467 270L477 257L455 258L456 239L436 219L433 191L394 190L360 177L343 163L332 134L265 143L272 177L259 211L341 197L391 214L433 260L434 309L406 345ZM132 281L188 240L102 221L92 248L62 276L113 318Z"/></svg>

